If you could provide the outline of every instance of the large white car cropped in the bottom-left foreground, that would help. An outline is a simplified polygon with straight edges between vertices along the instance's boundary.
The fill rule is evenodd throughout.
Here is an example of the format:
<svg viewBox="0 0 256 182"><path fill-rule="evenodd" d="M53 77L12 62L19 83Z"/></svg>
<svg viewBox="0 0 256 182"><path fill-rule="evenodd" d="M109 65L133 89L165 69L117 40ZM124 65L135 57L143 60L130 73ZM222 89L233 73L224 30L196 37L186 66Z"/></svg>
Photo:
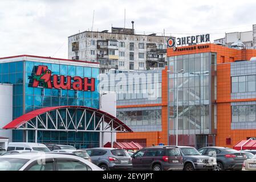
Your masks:
<svg viewBox="0 0 256 182"><path fill-rule="evenodd" d="M0 156L0 171L102 171L78 156L44 152Z"/></svg>

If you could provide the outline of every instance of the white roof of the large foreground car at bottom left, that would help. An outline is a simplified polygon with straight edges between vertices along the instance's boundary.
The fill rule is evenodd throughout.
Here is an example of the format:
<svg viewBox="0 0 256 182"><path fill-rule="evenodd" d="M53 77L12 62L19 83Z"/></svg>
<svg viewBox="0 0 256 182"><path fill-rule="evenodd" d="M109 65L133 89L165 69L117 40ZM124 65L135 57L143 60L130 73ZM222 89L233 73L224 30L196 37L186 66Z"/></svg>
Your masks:
<svg viewBox="0 0 256 182"><path fill-rule="evenodd" d="M42 153L42 154L38 154L38 153ZM31 160L31 159L40 159L40 158L63 158L66 157L68 155L65 154L56 154L56 153L44 153L44 152L31 152L31 153L25 153L25 154L16 154L16 155L4 155L1 156L1 158L11 158L11 159L27 159L27 160ZM71 156L71 155L70 155ZM73 156L73 158L76 159L80 159L77 156ZM1 159L0 158L0 159Z"/></svg>

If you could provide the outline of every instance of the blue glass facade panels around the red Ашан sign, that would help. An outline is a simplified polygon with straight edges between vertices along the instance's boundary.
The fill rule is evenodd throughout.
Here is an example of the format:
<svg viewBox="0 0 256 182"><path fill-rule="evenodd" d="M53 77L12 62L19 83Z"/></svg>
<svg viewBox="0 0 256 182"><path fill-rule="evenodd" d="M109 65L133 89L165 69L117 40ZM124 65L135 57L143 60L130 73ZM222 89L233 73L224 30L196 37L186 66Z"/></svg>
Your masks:
<svg viewBox="0 0 256 182"><path fill-rule="evenodd" d="M95 91L33 88L31 87L31 76L35 73L38 65L47 65L53 75L95 78ZM0 82L13 84L13 119L42 107L72 105L99 109L99 68L36 61L15 61L0 64ZM13 142L23 142L23 132L14 130ZM34 131L29 131L29 142L34 142ZM77 147L97 147L99 146L99 133L38 131L38 142L72 144Z"/></svg>

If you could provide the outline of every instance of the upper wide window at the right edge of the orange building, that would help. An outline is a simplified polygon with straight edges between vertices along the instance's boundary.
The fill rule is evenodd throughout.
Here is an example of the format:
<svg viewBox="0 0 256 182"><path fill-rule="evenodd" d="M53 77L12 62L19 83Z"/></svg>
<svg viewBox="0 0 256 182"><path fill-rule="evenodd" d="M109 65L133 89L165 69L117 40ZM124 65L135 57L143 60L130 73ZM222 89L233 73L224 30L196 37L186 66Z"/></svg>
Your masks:
<svg viewBox="0 0 256 182"><path fill-rule="evenodd" d="M255 92L256 75L231 77L232 93Z"/></svg>

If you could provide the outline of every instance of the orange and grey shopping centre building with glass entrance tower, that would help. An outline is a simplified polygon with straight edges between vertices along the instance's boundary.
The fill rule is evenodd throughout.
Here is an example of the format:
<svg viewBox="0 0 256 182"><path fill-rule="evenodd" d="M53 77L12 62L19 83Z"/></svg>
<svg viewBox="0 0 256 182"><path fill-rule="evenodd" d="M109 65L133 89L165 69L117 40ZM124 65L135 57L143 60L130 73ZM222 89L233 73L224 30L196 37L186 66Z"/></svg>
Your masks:
<svg viewBox="0 0 256 182"><path fill-rule="evenodd" d="M108 75L105 90L119 93L117 117L134 131L117 134L117 141L176 144L177 115L179 145L233 147L256 137L256 50L206 43L167 54L165 69ZM124 87L139 91L120 92Z"/></svg>

